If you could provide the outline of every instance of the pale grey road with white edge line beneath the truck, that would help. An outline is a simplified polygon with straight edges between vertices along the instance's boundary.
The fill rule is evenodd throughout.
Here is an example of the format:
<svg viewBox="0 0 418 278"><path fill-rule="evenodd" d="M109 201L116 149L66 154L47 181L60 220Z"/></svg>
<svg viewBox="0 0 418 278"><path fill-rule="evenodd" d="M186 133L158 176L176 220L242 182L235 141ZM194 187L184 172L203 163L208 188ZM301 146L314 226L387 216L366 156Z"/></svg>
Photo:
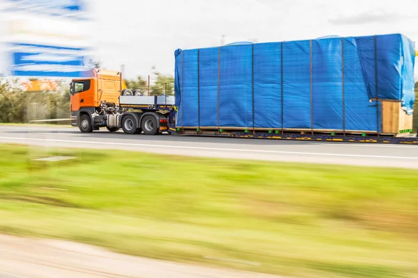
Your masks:
<svg viewBox="0 0 418 278"><path fill-rule="evenodd" d="M373 143L127 135L106 129L81 133L76 128L0 126L0 142L44 147L123 149L184 156L263 161L418 168L418 146Z"/></svg>

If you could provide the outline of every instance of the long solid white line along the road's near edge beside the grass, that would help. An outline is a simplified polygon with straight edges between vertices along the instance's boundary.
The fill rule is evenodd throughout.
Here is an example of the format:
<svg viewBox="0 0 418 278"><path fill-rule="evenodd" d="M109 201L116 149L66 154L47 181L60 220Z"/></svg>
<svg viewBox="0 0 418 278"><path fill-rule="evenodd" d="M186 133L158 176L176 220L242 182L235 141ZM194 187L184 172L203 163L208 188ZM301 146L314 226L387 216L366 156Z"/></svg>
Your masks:
<svg viewBox="0 0 418 278"><path fill-rule="evenodd" d="M285 151L270 151L264 149L226 149L216 147L189 147L189 146L175 146L175 145L152 145L152 144L135 144L122 142L100 142L100 141L82 141L82 140L57 140L57 139L39 139L39 138L20 138L20 137L0 137L0 139L11 140L33 140L43 142L68 142L68 143L82 143L91 145L116 145L116 146L132 146L132 147L160 147L170 149L201 149L208 151L226 151L226 152L254 152L265 154L305 154L310 156L345 156L345 157L364 157L364 158L396 158L396 159L413 159L418 160L418 157L412 156L366 156L362 154L327 154L318 152L285 152Z"/></svg>

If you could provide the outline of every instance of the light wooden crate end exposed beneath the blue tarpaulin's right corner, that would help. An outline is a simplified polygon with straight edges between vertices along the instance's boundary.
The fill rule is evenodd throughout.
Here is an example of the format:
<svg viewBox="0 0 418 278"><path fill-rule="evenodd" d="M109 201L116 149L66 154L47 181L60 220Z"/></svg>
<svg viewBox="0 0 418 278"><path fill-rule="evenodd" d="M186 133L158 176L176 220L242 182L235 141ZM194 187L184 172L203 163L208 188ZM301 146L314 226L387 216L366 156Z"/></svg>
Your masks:
<svg viewBox="0 0 418 278"><path fill-rule="evenodd" d="M405 134L412 130L412 115L401 108L399 101L382 101L382 133Z"/></svg>

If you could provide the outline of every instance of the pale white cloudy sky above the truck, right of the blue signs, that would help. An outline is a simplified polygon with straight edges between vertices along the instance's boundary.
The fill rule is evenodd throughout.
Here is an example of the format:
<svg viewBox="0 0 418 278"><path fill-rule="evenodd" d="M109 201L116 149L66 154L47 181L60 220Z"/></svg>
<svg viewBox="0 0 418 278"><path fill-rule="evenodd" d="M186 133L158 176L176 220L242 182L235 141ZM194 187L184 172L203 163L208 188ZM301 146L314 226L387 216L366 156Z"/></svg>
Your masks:
<svg viewBox="0 0 418 278"><path fill-rule="evenodd" d="M152 67L173 74L176 49L219 46L222 36L229 43L403 33L418 42L417 0L91 2L95 59L109 70L125 65L128 78Z"/></svg>

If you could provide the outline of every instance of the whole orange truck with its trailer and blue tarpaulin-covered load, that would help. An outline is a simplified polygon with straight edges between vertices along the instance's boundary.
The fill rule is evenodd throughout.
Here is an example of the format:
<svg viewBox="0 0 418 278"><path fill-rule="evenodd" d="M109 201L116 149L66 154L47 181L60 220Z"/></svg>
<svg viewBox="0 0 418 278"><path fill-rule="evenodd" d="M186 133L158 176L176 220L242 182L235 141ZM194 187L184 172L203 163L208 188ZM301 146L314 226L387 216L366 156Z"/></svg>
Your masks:
<svg viewBox="0 0 418 278"><path fill-rule="evenodd" d="M418 144L416 55L400 34L178 49L175 96L132 92L121 72L73 79L72 126L84 133L105 127L152 136Z"/></svg>

